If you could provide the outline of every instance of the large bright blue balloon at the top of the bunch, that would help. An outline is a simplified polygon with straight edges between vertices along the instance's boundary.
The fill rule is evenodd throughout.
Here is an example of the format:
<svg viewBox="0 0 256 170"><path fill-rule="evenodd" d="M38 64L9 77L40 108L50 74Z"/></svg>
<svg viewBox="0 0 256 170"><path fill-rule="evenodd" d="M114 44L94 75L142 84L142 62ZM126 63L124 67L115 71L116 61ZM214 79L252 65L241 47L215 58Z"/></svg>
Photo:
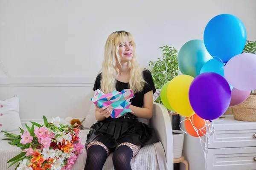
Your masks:
<svg viewBox="0 0 256 170"><path fill-rule="evenodd" d="M204 44L209 54L227 63L241 54L246 43L246 30L238 17L220 14L213 17L204 29Z"/></svg>

